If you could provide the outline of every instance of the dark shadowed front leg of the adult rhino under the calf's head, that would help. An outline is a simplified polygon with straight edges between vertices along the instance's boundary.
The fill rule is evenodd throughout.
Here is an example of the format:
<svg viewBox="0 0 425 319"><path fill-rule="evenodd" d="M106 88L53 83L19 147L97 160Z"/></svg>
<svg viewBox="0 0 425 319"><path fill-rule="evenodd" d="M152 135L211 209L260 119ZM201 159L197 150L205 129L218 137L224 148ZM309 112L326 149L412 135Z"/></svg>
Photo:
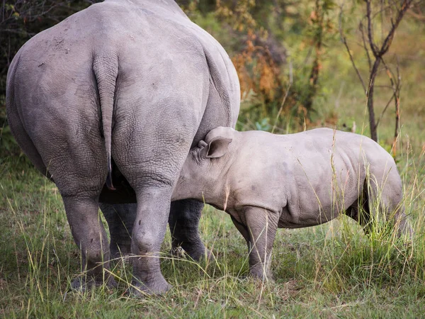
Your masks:
<svg viewBox="0 0 425 319"><path fill-rule="evenodd" d="M171 203L169 216L171 253L176 254L181 247L197 261L210 256L210 251L200 240L198 230L203 206L203 203L191 199Z"/></svg>

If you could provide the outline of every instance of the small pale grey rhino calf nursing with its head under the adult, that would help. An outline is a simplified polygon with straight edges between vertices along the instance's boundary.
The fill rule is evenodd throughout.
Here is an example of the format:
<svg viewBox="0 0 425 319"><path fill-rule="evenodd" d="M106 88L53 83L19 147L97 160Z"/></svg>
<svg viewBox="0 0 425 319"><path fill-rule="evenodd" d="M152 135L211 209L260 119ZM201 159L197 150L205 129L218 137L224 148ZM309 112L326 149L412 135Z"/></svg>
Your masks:
<svg viewBox="0 0 425 319"><path fill-rule="evenodd" d="M250 272L261 279L271 277L277 228L346 213L368 233L377 213L370 207L379 203L399 233L412 235L394 159L370 138L329 128L290 135L215 128L191 150L173 198L205 199L229 213L248 244Z"/></svg>

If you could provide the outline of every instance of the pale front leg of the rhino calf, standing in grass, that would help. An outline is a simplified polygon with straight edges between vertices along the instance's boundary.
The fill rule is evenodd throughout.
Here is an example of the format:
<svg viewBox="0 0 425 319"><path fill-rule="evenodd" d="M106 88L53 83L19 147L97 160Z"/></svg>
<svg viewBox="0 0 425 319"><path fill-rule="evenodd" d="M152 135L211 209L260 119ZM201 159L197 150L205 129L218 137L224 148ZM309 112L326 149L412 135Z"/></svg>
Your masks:
<svg viewBox="0 0 425 319"><path fill-rule="evenodd" d="M273 279L271 250L278 228L278 214L265 208L249 207L244 211L244 217L249 232L249 272L261 280Z"/></svg>

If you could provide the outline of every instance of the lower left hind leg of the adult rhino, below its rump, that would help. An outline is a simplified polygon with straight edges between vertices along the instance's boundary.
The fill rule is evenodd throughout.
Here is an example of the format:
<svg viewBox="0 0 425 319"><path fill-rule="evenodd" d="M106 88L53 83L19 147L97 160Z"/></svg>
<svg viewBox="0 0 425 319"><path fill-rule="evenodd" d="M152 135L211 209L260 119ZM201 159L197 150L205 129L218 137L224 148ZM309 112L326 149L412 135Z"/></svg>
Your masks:
<svg viewBox="0 0 425 319"><path fill-rule="evenodd" d="M104 281L109 286L116 286L113 277L103 272L109 267L109 248L97 201L75 196L64 196L63 200L72 236L81 250L81 268L86 272L72 281L72 289L84 290Z"/></svg>

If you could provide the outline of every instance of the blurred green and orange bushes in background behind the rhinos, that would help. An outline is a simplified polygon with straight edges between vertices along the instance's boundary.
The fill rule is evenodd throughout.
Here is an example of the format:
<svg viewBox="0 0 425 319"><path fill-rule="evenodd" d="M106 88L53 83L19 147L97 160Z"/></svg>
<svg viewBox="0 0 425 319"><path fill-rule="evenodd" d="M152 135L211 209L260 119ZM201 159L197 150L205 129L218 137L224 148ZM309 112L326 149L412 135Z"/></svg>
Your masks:
<svg viewBox="0 0 425 319"><path fill-rule="evenodd" d="M36 33L95 2L99 1L4 1L0 13L2 157L19 154L5 121L6 73L13 56ZM359 28L360 23L367 27L364 1L177 2L193 22L225 47L237 68L242 89L239 129L293 133L329 126L369 134L367 98L341 42L343 34L367 86L370 72ZM373 36L378 45L390 30L401 2L372 1ZM425 4L413 4L384 59L393 78L397 78L398 70L401 79L401 135L408 135L409 143L420 152L424 141ZM368 51L371 54L370 48ZM381 63L374 108L376 118L382 118L378 138L389 148L395 135L394 101L383 115L382 111L391 97L390 78Z"/></svg>

